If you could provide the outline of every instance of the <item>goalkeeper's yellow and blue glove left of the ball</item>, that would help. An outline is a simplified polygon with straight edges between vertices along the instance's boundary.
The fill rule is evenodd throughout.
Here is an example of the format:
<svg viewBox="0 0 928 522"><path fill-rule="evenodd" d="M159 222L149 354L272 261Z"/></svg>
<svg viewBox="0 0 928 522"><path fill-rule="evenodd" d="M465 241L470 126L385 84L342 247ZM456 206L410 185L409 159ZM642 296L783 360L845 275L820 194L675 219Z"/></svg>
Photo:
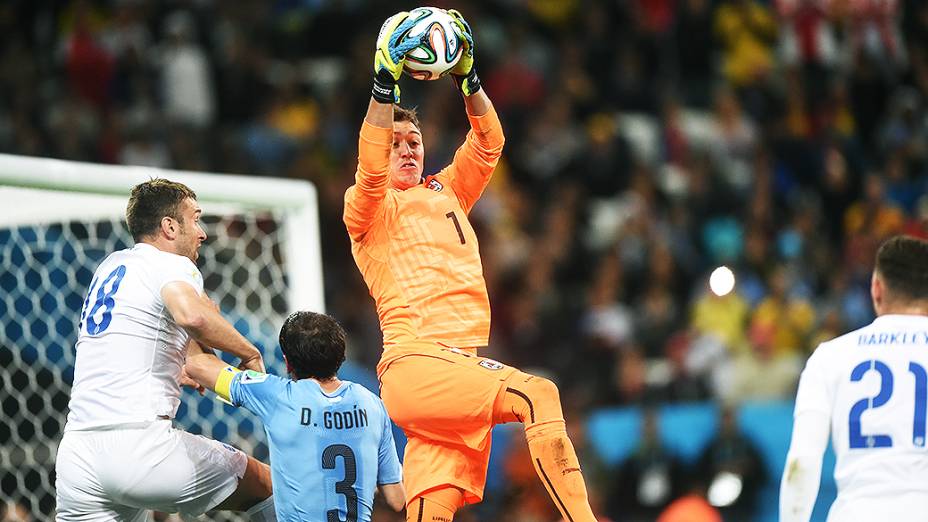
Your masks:
<svg viewBox="0 0 928 522"><path fill-rule="evenodd" d="M387 18L377 35L377 50L374 52L374 87L371 95L380 103L399 103L400 87L396 84L403 74L406 53L416 48L422 38L406 35L418 20L409 13L400 11Z"/></svg>

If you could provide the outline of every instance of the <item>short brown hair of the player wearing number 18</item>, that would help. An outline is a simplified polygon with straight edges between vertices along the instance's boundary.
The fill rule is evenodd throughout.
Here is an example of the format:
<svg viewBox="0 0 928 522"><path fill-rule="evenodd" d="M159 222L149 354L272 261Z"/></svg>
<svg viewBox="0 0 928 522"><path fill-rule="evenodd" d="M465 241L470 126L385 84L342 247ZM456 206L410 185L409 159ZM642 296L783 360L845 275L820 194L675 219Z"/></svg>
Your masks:
<svg viewBox="0 0 928 522"><path fill-rule="evenodd" d="M126 223L135 241L154 234L161 226L161 219L172 217L181 223L180 204L185 199L197 199L190 187L176 181L155 178L132 187L129 204L126 206Z"/></svg>

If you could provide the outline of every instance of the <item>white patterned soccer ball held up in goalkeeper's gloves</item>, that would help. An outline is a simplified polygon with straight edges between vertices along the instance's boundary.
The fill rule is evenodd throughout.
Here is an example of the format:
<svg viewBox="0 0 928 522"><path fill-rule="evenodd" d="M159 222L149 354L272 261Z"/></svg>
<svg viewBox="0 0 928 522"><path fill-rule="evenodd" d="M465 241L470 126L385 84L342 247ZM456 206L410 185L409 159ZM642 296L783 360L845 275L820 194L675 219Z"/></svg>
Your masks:
<svg viewBox="0 0 928 522"><path fill-rule="evenodd" d="M416 20L407 33L409 36L429 36L406 53L403 70L417 80L437 80L445 76L457 65L464 52L451 15L437 7L418 7L409 12L409 17Z"/></svg>

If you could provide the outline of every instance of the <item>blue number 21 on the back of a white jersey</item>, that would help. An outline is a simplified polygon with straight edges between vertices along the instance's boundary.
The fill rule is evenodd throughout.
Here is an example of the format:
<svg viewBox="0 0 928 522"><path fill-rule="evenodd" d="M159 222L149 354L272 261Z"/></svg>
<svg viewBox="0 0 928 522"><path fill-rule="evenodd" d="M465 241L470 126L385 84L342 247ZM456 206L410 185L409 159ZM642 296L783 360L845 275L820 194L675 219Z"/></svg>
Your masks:
<svg viewBox="0 0 928 522"><path fill-rule="evenodd" d="M880 375L880 391L876 397L861 399L851 406L848 416L848 443L851 449L891 448L893 439L889 435L864 435L861 433L860 417L870 408L879 408L893 395L893 372L882 361L864 361L851 370L851 382L863 379L869 371ZM925 413L928 409L928 373L920 364L909 363L909 373L915 379L915 413L912 419L912 444L925 447Z"/></svg>

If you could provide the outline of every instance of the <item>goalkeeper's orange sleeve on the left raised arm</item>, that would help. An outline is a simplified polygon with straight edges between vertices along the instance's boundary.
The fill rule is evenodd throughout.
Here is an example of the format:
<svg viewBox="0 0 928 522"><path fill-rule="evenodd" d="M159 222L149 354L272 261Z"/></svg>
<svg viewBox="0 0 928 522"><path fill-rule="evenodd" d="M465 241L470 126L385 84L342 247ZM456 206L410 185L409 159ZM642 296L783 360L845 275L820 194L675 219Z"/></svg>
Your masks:
<svg viewBox="0 0 928 522"><path fill-rule="evenodd" d="M358 138L358 171L354 185L345 192L342 218L348 235L360 241L383 207L390 184L390 147L393 129L375 127L366 121Z"/></svg>

